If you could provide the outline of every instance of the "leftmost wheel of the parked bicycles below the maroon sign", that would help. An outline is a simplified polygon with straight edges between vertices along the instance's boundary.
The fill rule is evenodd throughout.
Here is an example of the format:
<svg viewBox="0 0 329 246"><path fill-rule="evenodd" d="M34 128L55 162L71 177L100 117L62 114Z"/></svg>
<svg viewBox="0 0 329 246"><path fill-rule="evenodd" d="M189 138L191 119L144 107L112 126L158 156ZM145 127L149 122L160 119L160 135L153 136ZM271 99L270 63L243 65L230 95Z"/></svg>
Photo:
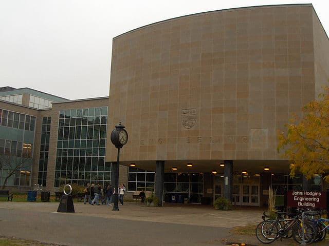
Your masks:
<svg viewBox="0 0 329 246"><path fill-rule="evenodd" d="M262 243L271 243L278 237L278 226L276 220L265 220L258 224L256 228L256 237Z"/></svg>

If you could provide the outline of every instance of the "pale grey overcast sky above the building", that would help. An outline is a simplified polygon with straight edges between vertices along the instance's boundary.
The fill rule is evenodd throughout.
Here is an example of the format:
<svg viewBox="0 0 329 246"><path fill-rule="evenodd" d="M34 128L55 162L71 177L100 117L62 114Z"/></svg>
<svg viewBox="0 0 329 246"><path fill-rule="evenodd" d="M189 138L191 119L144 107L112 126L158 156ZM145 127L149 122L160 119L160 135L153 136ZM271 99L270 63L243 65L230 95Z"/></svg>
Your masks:
<svg viewBox="0 0 329 246"><path fill-rule="evenodd" d="M187 14L298 3L312 3L329 33L327 0L0 0L0 87L29 87L67 99L108 96L117 35Z"/></svg>

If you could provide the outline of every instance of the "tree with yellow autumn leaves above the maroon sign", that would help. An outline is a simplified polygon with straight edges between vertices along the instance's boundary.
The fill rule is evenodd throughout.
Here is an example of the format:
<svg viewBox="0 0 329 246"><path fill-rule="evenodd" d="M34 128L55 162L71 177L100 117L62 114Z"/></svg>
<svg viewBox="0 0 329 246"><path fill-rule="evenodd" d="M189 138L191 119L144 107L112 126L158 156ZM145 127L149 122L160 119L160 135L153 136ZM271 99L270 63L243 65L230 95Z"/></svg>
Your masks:
<svg viewBox="0 0 329 246"><path fill-rule="evenodd" d="M286 133L279 133L278 152L290 161L290 176L300 171L307 179L329 169L329 87L303 108L303 117L293 115ZM324 177L329 182L329 175Z"/></svg>

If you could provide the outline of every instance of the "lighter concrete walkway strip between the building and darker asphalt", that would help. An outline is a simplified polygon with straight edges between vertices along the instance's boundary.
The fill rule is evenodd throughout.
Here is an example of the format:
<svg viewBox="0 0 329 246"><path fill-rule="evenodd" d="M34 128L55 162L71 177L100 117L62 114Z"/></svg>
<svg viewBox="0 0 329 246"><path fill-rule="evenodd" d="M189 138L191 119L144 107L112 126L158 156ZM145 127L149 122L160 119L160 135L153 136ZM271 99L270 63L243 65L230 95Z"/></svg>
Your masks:
<svg viewBox="0 0 329 246"><path fill-rule="evenodd" d="M210 206L180 203L168 203L164 207L147 207L141 203L125 202L123 206L119 204L119 211L113 211L113 206L91 206L82 202L75 202L74 207L75 213L71 213L72 216L83 215L224 228L255 224L261 221L263 213L261 208L239 208L230 211L220 211ZM0 208L57 213L58 203L0 202Z"/></svg>

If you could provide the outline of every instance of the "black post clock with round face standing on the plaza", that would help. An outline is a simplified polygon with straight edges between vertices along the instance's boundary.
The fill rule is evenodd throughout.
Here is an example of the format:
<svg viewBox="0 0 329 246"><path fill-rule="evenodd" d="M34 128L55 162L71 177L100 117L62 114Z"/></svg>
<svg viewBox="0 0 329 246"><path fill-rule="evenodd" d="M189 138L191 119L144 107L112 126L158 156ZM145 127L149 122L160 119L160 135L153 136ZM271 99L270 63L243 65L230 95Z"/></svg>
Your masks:
<svg viewBox="0 0 329 246"><path fill-rule="evenodd" d="M115 165L115 178L114 178L114 206L113 210L119 211L118 200L119 200L119 158L120 158L120 149L127 143L128 134L124 130L124 126L119 122L115 126L115 129L111 133L112 144L115 145L115 148L118 149L117 163ZM113 170L113 169L112 169Z"/></svg>

